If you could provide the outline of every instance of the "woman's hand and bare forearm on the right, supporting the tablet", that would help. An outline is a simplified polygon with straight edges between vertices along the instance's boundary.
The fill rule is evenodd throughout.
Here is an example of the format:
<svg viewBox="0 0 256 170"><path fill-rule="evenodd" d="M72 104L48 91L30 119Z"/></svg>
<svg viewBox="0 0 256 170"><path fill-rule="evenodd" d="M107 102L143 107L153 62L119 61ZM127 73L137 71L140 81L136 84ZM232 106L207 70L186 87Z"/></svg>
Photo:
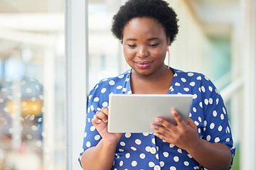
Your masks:
<svg viewBox="0 0 256 170"><path fill-rule="evenodd" d="M155 121L160 125L151 125L152 129L158 131L154 135L161 140L185 149L193 159L196 159L206 169L228 169L232 161L232 154L227 146L201 140L198 136L196 124L191 118L189 118L188 125L186 125L177 111L172 110L171 114L174 115L177 124L156 117Z"/></svg>

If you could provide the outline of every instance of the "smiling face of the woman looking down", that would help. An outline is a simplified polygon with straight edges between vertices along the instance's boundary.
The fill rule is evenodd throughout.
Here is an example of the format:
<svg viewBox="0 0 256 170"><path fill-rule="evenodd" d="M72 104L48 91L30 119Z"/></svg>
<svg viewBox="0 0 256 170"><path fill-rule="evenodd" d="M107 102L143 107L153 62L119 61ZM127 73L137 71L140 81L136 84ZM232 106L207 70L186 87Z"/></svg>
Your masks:
<svg viewBox="0 0 256 170"><path fill-rule="evenodd" d="M164 59L170 38L156 20L133 18L124 27L124 57L136 74L149 76L166 69Z"/></svg>

